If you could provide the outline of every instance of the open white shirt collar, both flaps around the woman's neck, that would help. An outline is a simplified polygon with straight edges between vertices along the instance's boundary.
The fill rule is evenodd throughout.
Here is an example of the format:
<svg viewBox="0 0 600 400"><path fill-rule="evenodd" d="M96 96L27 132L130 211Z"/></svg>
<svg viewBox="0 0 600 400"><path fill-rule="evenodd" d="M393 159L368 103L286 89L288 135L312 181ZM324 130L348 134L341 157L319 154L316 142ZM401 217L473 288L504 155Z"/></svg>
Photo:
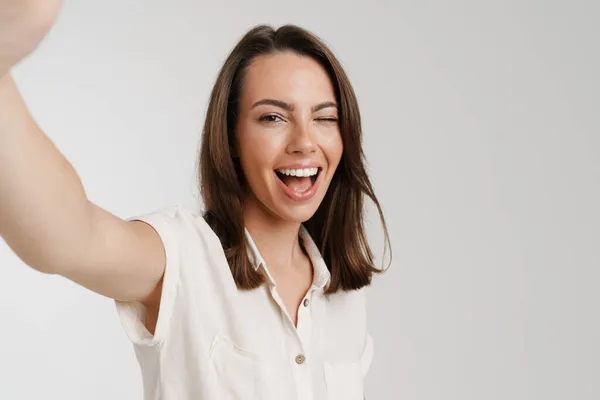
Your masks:
<svg viewBox="0 0 600 400"><path fill-rule="evenodd" d="M254 243L254 240L252 239L250 232L248 232L248 229L245 229L245 233L248 243L248 258L250 259L252 266L255 270L258 270L258 268L262 266L267 274L269 283L275 286L275 280L269 273L269 269L266 267L265 260L261 256L258 247L256 247L256 243ZM304 225L300 225L300 239L302 240L302 244L304 244L304 248L306 249L308 257L313 265L313 285L321 289L325 288L325 286L331 280L331 274L327 268L327 265L325 264L323 256L321 256L319 248L313 241L310 233L308 233L308 230L304 227Z"/></svg>

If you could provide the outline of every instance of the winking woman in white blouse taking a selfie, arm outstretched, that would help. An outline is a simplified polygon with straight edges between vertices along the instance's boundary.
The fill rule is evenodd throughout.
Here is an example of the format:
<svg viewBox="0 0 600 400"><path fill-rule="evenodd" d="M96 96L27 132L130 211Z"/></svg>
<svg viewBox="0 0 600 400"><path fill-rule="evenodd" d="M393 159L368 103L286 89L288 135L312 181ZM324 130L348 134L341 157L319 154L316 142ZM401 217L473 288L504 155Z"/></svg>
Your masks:
<svg viewBox="0 0 600 400"><path fill-rule="evenodd" d="M87 199L9 74L57 10L0 0L4 240L32 268L116 300L147 399L362 399L373 357L362 288L380 271L364 196L385 222L332 52L296 26L250 30L211 94L204 208L121 220Z"/></svg>

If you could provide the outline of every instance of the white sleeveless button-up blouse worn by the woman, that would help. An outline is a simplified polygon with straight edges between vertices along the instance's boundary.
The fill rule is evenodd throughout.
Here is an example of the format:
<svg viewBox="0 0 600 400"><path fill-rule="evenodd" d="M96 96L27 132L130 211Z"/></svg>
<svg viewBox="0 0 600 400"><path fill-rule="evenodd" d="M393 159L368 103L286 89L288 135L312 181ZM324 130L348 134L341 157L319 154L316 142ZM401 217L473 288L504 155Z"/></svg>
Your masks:
<svg viewBox="0 0 600 400"><path fill-rule="evenodd" d="M329 270L304 227L314 279L295 327L248 231L250 259L269 279L240 291L199 212L174 206L130 220L158 232L167 260L154 336L140 303L116 301L146 400L363 399L373 356L364 289L324 296Z"/></svg>

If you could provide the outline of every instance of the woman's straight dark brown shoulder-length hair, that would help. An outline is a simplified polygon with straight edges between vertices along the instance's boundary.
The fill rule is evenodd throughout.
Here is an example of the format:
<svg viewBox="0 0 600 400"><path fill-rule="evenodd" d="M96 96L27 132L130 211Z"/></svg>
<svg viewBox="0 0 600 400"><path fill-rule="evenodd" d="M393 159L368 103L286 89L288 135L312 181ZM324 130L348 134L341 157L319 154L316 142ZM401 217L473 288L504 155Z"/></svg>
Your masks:
<svg viewBox="0 0 600 400"><path fill-rule="evenodd" d="M361 118L354 90L331 50L301 27L284 25L277 30L267 25L254 27L234 47L221 68L210 96L198 166L204 218L221 241L237 286L253 289L261 285L264 273L252 268L247 255L242 214L245 180L232 154L245 71L256 57L281 51L316 60L327 71L335 89L343 154L325 198L304 226L331 272L326 293L359 289L370 284L373 273L381 272L373 265L373 253L364 230L364 196L377 207L391 263L389 235L365 168Z"/></svg>

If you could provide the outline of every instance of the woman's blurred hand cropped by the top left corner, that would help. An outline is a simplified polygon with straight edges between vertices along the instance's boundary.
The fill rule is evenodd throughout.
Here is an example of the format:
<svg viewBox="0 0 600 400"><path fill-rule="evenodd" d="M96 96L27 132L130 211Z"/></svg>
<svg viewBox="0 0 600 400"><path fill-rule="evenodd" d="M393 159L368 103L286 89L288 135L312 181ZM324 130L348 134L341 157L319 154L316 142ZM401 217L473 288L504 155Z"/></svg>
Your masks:
<svg viewBox="0 0 600 400"><path fill-rule="evenodd" d="M60 0L0 0L0 77L44 39Z"/></svg>

